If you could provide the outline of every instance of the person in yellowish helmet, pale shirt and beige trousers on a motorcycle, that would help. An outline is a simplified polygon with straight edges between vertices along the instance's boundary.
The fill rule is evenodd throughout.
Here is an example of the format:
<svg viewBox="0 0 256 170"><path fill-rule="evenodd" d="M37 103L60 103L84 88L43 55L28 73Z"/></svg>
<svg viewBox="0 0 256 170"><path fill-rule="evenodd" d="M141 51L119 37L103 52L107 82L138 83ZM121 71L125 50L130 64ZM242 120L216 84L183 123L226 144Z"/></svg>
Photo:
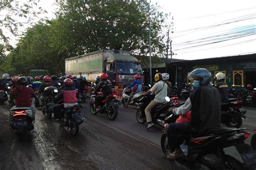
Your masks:
<svg viewBox="0 0 256 170"><path fill-rule="evenodd" d="M156 75L154 75L154 80L156 81L154 86L144 94L144 96L149 95L150 93L154 93L156 95L154 97L154 100L152 100L145 109L145 115L146 115L146 120L148 124L146 129L150 129L151 126L154 125L154 123L152 122L152 116L151 116L152 109L157 104L164 103L165 97L167 96L167 84L164 83L162 74L157 73Z"/></svg>

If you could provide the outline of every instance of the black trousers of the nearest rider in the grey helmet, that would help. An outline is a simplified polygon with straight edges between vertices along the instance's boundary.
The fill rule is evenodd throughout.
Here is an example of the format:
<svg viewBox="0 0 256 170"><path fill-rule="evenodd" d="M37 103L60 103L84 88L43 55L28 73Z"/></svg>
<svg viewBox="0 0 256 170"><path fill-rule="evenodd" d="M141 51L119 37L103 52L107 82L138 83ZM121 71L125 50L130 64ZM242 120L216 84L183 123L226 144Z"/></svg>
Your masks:
<svg viewBox="0 0 256 170"><path fill-rule="evenodd" d="M168 128L168 145L175 150L186 139L185 135L191 134L191 125L187 123L171 123ZM184 136L182 136L184 135Z"/></svg>

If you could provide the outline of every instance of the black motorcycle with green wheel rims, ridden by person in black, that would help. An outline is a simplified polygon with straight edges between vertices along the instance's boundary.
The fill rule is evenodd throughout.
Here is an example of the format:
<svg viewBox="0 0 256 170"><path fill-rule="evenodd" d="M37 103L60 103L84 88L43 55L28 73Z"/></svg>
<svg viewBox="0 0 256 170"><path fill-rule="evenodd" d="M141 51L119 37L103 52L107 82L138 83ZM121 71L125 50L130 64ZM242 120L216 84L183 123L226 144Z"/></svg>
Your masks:
<svg viewBox="0 0 256 170"><path fill-rule="evenodd" d="M117 95L112 94L106 97L105 100L103 100L99 107L99 110L95 110L95 98L96 96L102 96L103 93L99 92L97 95L95 95L95 87L92 88L92 93L91 93L91 102L90 102L90 112L92 115L96 115L98 112L100 114L106 114L107 117L111 120L114 121L114 119L117 118L118 114L118 108L119 108L119 102L116 100Z"/></svg>

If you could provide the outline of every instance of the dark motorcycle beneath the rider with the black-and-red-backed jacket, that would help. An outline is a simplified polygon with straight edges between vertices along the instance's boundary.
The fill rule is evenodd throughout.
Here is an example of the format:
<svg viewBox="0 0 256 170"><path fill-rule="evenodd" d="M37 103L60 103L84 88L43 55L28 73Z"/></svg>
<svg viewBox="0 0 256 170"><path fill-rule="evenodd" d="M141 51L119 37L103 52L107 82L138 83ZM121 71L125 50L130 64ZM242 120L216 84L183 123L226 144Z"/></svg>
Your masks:
<svg viewBox="0 0 256 170"><path fill-rule="evenodd" d="M85 121L81 114L81 107L79 104L67 107L64 110L64 118L60 124L67 129L70 129L72 136L76 136L79 131L79 125Z"/></svg>

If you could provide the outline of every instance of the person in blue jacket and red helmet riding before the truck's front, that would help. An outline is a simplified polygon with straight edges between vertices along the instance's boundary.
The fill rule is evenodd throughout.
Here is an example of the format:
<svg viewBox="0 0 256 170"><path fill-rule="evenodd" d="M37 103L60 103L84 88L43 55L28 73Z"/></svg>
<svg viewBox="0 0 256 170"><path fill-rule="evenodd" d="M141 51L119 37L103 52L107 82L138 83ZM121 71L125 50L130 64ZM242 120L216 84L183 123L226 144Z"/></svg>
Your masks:
<svg viewBox="0 0 256 170"><path fill-rule="evenodd" d="M140 80L140 74L134 75L133 83L128 86L127 88L132 88L132 93L130 94L127 103L125 104L125 108L128 108L129 103L131 102L134 94L139 93L142 91L142 81Z"/></svg>

